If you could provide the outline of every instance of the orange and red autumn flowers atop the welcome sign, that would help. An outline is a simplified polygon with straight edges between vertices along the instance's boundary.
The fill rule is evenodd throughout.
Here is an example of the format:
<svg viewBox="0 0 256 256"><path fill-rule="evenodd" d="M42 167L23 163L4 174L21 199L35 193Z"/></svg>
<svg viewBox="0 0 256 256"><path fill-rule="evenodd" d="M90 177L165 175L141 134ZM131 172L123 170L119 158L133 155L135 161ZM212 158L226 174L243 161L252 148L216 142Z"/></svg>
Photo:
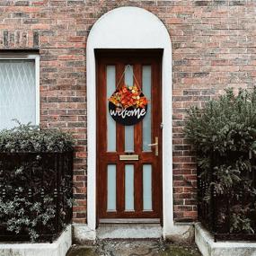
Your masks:
<svg viewBox="0 0 256 256"><path fill-rule="evenodd" d="M109 99L116 107L127 109L129 107L146 108L147 99L137 85L120 87Z"/></svg>

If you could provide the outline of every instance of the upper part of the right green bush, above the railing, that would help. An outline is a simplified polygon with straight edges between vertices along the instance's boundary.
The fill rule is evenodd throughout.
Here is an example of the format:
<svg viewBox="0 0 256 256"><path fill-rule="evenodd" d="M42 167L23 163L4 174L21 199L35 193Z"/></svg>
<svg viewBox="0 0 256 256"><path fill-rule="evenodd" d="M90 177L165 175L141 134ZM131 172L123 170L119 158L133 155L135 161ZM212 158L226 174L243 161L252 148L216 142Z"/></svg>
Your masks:
<svg viewBox="0 0 256 256"><path fill-rule="evenodd" d="M200 153L248 153L256 149L256 90L231 89L199 110L192 107L185 132Z"/></svg>

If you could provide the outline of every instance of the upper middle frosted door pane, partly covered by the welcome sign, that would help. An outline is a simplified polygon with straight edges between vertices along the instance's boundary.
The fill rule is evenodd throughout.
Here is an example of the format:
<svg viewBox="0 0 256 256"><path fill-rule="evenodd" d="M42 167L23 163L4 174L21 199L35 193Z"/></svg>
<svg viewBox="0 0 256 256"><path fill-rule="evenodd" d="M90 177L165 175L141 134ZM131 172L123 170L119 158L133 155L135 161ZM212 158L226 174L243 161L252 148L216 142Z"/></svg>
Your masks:
<svg viewBox="0 0 256 256"><path fill-rule="evenodd" d="M125 84L128 86L133 85L133 66L126 66ZM134 126L125 127L125 151L134 151Z"/></svg>

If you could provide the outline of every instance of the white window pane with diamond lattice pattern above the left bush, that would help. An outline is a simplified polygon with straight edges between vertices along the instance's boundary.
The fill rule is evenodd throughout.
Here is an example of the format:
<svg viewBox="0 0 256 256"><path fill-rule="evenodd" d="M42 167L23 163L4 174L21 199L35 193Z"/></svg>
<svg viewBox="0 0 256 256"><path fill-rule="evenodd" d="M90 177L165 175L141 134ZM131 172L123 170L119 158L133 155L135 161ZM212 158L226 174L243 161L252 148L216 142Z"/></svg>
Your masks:
<svg viewBox="0 0 256 256"><path fill-rule="evenodd" d="M13 128L12 119L36 124L34 60L0 59L0 129Z"/></svg>

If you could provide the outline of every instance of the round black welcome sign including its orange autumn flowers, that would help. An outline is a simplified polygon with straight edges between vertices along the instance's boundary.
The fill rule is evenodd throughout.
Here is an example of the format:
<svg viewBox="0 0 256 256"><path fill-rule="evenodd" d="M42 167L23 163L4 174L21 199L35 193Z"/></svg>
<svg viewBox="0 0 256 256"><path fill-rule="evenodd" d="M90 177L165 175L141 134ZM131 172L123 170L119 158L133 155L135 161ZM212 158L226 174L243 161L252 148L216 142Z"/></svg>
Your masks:
<svg viewBox="0 0 256 256"><path fill-rule="evenodd" d="M110 116L123 126L136 125L146 116L147 102L137 85L124 85L109 99Z"/></svg>

